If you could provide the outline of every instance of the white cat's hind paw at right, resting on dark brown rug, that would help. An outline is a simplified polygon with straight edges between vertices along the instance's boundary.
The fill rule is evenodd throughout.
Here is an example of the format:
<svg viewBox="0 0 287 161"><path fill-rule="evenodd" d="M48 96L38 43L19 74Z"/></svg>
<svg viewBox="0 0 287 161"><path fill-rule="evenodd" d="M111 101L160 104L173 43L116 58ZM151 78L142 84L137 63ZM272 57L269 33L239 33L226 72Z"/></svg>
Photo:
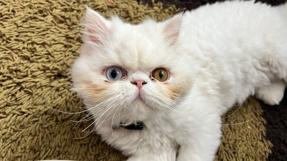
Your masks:
<svg viewBox="0 0 287 161"><path fill-rule="evenodd" d="M283 80L275 81L269 86L259 88L255 92L255 97L268 105L279 105L284 96L285 87L286 83Z"/></svg>

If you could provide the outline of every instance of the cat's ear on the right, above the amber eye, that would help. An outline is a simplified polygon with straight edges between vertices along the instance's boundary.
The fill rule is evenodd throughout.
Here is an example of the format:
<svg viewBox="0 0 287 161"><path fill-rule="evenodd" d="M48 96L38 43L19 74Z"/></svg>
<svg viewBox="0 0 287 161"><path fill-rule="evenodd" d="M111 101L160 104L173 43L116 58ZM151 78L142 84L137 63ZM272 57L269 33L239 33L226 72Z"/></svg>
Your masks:
<svg viewBox="0 0 287 161"><path fill-rule="evenodd" d="M179 13L172 18L169 18L164 22L164 32L165 40L170 44L174 45L178 39L179 31L182 24L182 14Z"/></svg>

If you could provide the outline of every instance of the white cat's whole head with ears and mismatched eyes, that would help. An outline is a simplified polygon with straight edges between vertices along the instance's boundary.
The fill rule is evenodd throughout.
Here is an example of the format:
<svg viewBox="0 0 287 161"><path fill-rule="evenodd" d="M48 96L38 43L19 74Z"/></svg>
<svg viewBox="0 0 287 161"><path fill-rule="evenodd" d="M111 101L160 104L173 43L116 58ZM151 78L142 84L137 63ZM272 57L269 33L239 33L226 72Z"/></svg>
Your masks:
<svg viewBox="0 0 287 161"><path fill-rule="evenodd" d="M72 80L86 104L140 121L154 110L169 111L189 91L192 69L176 51L181 15L130 25L88 9L85 26Z"/></svg>

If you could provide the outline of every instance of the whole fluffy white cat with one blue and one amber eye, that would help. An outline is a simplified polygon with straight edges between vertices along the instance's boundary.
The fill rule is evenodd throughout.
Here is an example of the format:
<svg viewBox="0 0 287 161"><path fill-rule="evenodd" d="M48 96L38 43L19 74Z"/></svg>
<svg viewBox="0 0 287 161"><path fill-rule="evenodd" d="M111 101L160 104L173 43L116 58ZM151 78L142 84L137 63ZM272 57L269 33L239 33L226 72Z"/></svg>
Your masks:
<svg viewBox="0 0 287 161"><path fill-rule="evenodd" d="M287 4L225 1L139 25L87 8L84 25L72 68L81 121L128 160L213 160L227 107L283 97Z"/></svg>

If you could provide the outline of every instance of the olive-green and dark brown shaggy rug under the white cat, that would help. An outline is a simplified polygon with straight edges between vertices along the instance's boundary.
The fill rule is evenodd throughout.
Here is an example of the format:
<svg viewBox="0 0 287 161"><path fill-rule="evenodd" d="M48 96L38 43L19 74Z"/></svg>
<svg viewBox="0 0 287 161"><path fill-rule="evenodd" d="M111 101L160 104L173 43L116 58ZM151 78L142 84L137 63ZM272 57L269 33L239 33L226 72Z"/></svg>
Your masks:
<svg viewBox="0 0 287 161"><path fill-rule="evenodd" d="M66 112L80 112L76 107L83 106L69 90L69 68L81 47L77 23L85 13L83 4L106 17L117 14L139 23L215 1L0 0L0 160L125 159L95 133L74 139L86 136L81 130L91 122L73 129L70 120L85 114L43 106ZM263 1L279 5L286 0ZM230 110L227 116L237 111L222 124L242 124L223 127L215 160L287 160L286 106L287 97L274 107L250 98Z"/></svg>

